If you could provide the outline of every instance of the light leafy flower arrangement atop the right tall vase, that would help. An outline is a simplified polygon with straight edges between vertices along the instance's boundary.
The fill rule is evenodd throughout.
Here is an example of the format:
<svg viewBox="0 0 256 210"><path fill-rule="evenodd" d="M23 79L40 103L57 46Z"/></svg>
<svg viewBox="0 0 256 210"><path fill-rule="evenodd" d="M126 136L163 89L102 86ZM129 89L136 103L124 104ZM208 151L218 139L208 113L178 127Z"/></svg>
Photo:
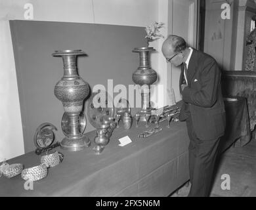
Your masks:
<svg viewBox="0 0 256 210"><path fill-rule="evenodd" d="M150 41L154 41L156 39L159 39L160 37L164 38L163 35L160 33L160 28L162 28L164 25L163 22L154 22L150 26L146 26L145 31L146 31L146 39L147 43L149 45Z"/></svg>

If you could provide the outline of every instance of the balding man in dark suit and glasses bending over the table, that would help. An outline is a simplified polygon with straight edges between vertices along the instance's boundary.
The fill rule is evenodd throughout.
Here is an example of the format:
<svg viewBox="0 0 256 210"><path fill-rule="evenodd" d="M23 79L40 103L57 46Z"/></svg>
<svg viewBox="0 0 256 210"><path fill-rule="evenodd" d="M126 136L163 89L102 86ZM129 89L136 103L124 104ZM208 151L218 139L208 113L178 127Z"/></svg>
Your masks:
<svg viewBox="0 0 256 210"><path fill-rule="evenodd" d="M221 93L221 70L208 54L186 47L182 37L169 35L162 46L167 62L182 68L180 121L186 121L190 138L188 196L209 196L220 138L226 117Z"/></svg>

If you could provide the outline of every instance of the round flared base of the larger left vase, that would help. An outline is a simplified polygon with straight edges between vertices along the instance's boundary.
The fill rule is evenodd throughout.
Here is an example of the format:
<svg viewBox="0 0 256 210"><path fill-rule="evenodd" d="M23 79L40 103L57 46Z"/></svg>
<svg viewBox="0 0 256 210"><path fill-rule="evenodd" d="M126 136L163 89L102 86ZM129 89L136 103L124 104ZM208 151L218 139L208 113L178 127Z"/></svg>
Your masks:
<svg viewBox="0 0 256 210"><path fill-rule="evenodd" d="M91 146L91 140L83 135L82 137L68 138L65 137L60 146L63 150L79 151Z"/></svg>

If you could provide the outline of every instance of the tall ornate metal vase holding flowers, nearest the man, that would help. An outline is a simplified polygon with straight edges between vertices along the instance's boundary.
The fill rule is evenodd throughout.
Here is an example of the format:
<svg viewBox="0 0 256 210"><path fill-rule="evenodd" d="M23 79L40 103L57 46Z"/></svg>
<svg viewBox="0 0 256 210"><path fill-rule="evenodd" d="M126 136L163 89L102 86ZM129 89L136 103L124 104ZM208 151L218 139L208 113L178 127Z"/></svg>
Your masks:
<svg viewBox="0 0 256 210"><path fill-rule="evenodd" d="M158 74L150 66L150 52L156 51L153 47L135 48L133 53L139 53L140 66L133 73L133 82L141 86L142 110L140 111L140 121L146 121L146 114L150 114L150 85L158 79Z"/></svg>

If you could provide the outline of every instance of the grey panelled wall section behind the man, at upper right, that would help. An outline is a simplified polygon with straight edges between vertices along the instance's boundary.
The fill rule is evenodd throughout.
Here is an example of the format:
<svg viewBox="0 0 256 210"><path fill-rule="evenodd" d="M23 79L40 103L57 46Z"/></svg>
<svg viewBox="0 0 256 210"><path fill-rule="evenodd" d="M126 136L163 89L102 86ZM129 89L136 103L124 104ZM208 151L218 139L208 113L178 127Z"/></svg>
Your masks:
<svg viewBox="0 0 256 210"><path fill-rule="evenodd" d="M226 1L206 1L204 51L211 54L223 70L241 71L244 70L245 39L256 5L253 0L229 2L230 20L223 20L221 5Z"/></svg>

